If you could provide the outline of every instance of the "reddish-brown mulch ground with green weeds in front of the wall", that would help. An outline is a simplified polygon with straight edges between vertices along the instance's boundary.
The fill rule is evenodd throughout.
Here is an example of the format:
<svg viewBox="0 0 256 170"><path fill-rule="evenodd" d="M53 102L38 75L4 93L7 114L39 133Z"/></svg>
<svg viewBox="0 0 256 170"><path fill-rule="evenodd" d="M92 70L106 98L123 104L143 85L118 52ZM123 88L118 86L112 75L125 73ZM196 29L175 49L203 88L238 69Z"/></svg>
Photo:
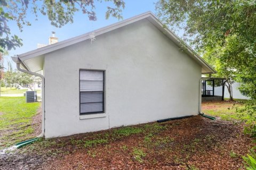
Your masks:
<svg viewBox="0 0 256 170"><path fill-rule="evenodd" d="M159 125L164 128L156 123L133 126L143 131L122 138L115 138L113 130L59 138L52 147L69 154L43 169L243 169L242 156L253 146L242 124L194 116ZM96 137L108 142L82 148L70 142Z"/></svg>

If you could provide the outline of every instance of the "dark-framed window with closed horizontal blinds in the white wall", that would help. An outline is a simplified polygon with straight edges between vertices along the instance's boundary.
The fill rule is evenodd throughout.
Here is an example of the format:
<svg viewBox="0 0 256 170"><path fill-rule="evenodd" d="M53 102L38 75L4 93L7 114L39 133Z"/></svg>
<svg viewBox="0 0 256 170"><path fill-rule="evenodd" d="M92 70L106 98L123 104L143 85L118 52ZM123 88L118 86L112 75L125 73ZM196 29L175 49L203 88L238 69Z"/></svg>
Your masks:
<svg viewBox="0 0 256 170"><path fill-rule="evenodd" d="M104 112L104 71L80 70L80 114Z"/></svg>

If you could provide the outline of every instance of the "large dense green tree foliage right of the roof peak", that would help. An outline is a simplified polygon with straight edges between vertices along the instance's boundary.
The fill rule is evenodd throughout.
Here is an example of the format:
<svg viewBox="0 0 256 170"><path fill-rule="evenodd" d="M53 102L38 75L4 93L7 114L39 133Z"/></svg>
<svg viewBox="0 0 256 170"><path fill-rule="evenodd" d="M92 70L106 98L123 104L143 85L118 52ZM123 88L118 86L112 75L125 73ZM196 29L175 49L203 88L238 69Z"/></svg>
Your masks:
<svg viewBox="0 0 256 170"><path fill-rule="evenodd" d="M221 71L233 71L239 90L251 98L244 111L255 124L256 1L159 0L156 10L166 26L184 31L183 40L199 54L209 52L205 57L218 61Z"/></svg>

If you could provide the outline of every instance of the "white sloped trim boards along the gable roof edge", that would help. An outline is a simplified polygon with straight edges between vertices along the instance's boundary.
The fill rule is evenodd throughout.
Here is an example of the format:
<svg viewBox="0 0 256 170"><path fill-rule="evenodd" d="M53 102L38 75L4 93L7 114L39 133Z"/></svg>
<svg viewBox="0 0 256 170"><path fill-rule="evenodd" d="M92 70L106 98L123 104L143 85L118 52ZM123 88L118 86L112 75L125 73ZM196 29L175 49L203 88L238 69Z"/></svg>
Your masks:
<svg viewBox="0 0 256 170"><path fill-rule="evenodd" d="M163 27L163 23L161 21L159 21L157 19L157 17L153 13L151 13L150 11L146 12L146 13L142 13L142 14L137 15L137 16L133 16L130 19L126 19L126 20L123 20L123 21L120 21L120 22L108 25L106 27L94 30L93 33L94 33L95 36L99 36L102 33L109 32L111 30L123 27L124 25L130 24L130 23L142 20L142 19L146 19L146 18L151 23L153 23L157 28L162 30L163 33L165 33L165 34L167 33L167 36L170 39L172 39L174 41L174 43L177 44L179 47L182 48L185 45L187 53L191 57L194 57L199 63L201 63L202 64L201 67L207 68L206 70L209 70L210 74L216 73L216 71L209 64L207 64L203 60L202 57L198 56L194 52L194 50L191 49L187 44L184 44L181 41L181 39L177 35L175 35L175 33L173 33L171 30L169 30L167 28L164 28ZM29 69L29 67L24 63L24 61L29 60L30 58L34 58L34 57L37 57L37 56L40 56L40 55L44 55L44 54L53 52L54 50L58 50L58 49L61 49L61 48L64 48L64 47L67 47L67 46L79 43L79 42L84 41L84 40L87 40L87 39L90 38L90 33L91 32L88 32L88 33L85 33L85 34L83 34L81 36L77 36L77 37L70 38L70 39L67 39L67 40L64 40L64 41L60 41L59 43L55 43L55 44L48 45L48 46L45 46L45 47L42 47L42 48L31 50L30 52L18 55L18 57L22 61L22 63ZM209 74L209 73L203 73L203 74Z"/></svg>

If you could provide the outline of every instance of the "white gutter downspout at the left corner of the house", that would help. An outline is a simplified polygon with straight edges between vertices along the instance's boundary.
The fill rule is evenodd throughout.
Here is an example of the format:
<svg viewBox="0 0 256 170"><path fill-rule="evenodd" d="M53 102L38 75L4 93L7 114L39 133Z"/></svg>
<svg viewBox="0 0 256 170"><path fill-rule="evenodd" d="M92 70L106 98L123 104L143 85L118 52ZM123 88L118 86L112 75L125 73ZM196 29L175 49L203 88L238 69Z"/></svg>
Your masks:
<svg viewBox="0 0 256 170"><path fill-rule="evenodd" d="M23 70L20 68L20 60L18 57L12 57L12 60L17 64L17 69L23 73L28 73L28 74L32 74L32 75L36 75L38 77L40 77L42 79L42 132L41 134L39 134L37 137L41 138L44 137L44 132L45 132L45 100L44 100L44 76L42 74L38 74L35 72L30 72L27 70Z"/></svg>

